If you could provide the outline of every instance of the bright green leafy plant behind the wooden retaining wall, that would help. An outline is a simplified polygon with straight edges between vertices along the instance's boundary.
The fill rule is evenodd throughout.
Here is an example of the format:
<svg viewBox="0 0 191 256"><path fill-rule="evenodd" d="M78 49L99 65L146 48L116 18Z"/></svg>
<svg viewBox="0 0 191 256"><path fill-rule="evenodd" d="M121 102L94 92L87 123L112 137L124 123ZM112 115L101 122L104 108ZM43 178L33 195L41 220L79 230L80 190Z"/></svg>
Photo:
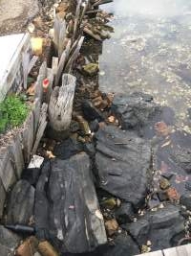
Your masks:
<svg viewBox="0 0 191 256"><path fill-rule="evenodd" d="M29 108L21 96L9 95L0 104L0 132L23 124Z"/></svg>

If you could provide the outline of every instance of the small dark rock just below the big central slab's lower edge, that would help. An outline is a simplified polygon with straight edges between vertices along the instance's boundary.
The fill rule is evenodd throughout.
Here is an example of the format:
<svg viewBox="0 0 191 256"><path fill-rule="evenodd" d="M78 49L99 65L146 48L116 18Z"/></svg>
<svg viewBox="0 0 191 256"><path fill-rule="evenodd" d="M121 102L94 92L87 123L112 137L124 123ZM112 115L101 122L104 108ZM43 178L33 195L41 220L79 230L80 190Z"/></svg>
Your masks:
<svg viewBox="0 0 191 256"><path fill-rule="evenodd" d="M134 208L132 204L129 202L122 202L121 206L115 212L115 216L119 224L132 222L135 217Z"/></svg>

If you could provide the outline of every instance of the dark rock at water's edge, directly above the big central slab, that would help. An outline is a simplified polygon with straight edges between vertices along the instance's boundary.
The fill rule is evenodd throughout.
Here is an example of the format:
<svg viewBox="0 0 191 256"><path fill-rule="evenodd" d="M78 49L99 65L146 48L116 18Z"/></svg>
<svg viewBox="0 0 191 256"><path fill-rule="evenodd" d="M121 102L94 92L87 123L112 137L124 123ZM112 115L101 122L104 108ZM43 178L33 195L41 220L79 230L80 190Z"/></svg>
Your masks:
<svg viewBox="0 0 191 256"><path fill-rule="evenodd" d="M153 102L152 96L135 92L115 96L112 111L117 115L122 129L139 129L160 111L160 107Z"/></svg>

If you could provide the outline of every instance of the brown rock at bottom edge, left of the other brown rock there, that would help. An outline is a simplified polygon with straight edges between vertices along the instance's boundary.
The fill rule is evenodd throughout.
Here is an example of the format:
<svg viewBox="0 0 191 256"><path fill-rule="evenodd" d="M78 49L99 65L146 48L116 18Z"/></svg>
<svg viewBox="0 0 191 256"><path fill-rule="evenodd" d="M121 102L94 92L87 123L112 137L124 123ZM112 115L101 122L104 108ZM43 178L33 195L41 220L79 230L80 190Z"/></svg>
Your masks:
<svg viewBox="0 0 191 256"><path fill-rule="evenodd" d="M35 237L28 238L16 249L16 256L32 256L37 251L38 240Z"/></svg>

